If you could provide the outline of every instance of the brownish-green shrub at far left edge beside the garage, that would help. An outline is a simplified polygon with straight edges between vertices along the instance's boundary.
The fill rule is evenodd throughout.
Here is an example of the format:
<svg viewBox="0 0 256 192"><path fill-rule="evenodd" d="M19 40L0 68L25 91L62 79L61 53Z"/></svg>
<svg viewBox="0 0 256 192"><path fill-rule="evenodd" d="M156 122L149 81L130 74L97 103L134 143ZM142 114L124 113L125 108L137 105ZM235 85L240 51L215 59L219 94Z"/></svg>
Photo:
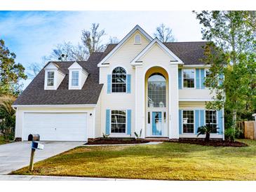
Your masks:
<svg viewBox="0 0 256 192"><path fill-rule="evenodd" d="M4 100L0 103L0 132L6 140L14 137L15 110L12 104L12 99Z"/></svg>

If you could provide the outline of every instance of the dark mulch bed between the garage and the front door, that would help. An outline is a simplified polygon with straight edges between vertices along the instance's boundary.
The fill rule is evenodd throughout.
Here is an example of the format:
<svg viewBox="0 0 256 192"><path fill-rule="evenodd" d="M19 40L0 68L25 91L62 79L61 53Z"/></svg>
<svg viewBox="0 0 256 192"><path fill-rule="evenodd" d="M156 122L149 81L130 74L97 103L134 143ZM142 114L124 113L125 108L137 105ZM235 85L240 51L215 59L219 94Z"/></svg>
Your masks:
<svg viewBox="0 0 256 192"><path fill-rule="evenodd" d="M149 141L143 139L97 139L94 141L89 141L86 145L93 144L144 144Z"/></svg>

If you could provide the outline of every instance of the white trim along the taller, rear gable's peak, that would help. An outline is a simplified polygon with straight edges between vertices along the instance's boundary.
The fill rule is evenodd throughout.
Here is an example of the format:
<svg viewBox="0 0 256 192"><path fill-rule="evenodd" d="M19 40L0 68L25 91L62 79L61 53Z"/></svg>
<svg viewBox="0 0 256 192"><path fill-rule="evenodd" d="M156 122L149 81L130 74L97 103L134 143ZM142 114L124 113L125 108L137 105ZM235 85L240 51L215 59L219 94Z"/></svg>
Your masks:
<svg viewBox="0 0 256 192"><path fill-rule="evenodd" d="M147 32L145 32L139 25L136 25L118 44L117 46L112 50L110 51L109 54L107 54L98 64L97 64L97 67L108 67L109 64L107 64L107 66L105 66L105 64L103 64L107 59L109 59L109 57L111 57L117 50L119 50L119 48L121 48L121 46L123 46L123 43L125 43L129 38L130 36L132 36L135 31L138 30L140 31L140 33L142 33L146 39L148 41L152 41L153 39L151 38L151 36L149 36L149 34L147 34Z"/></svg>

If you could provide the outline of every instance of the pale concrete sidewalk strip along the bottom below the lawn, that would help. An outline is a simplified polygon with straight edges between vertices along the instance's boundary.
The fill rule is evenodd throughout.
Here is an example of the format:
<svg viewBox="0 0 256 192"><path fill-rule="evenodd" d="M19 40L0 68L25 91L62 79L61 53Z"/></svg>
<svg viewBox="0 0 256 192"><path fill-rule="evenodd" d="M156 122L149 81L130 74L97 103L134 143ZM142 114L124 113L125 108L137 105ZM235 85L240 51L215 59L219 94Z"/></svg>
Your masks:
<svg viewBox="0 0 256 192"><path fill-rule="evenodd" d="M0 181L137 181L140 179L115 179L96 177L55 177L34 175L0 175Z"/></svg>

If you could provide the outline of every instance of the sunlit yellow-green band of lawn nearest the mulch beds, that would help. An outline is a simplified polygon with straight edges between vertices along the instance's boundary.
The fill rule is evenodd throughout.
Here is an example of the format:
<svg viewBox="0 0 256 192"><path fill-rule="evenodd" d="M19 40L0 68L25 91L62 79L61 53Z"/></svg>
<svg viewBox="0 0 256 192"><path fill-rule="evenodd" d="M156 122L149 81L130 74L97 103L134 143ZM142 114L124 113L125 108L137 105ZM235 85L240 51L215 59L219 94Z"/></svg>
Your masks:
<svg viewBox="0 0 256 192"><path fill-rule="evenodd" d="M246 147L214 147L200 146L196 144L163 143L144 146L82 146L72 149L61 156L53 157L55 163L63 160L81 160L90 158L98 162L106 162L112 158L191 158L203 156L219 156L220 158L256 156L256 142L242 141L249 144ZM89 149L88 149L89 148ZM52 161L53 158L48 160Z"/></svg>

